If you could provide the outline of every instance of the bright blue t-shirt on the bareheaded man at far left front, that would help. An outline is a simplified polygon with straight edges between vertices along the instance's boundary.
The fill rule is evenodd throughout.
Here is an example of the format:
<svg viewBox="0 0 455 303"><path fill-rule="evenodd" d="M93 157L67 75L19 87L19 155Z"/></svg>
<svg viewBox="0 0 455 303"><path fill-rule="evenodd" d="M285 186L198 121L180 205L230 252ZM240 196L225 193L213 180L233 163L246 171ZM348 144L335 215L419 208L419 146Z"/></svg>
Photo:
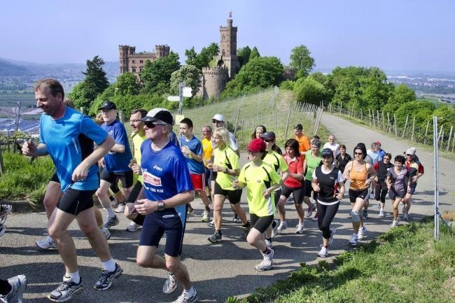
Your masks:
<svg viewBox="0 0 455 303"><path fill-rule="evenodd" d="M92 165L87 178L71 184L71 176L93 151L93 142L102 144L108 134L92 119L73 108L66 107L64 116L54 120L50 115L41 115L39 142L44 143L54 162L60 186L64 192L69 185L76 190L96 190L99 187L98 167Z"/></svg>

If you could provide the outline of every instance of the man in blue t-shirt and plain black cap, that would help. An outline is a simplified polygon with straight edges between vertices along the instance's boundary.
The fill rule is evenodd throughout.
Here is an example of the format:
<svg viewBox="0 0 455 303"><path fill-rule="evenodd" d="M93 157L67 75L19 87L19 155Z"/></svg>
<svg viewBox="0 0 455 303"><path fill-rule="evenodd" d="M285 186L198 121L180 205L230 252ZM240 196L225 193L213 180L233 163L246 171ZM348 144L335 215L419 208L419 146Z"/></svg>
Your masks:
<svg viewBox="0 0 455 303"><path fill-rule="evenodd" d="M128 142L128 134L117 118L116 104L112 101L106 101L101 106L104 123L102 128L116 141L116 144L109 150L109 153L104 155L102 166L104 167L101 173L101 183L97 190L97 197L104 209L107 211L106 222L104 227L108 230L115 225L118 225L119 220L112 209L112 202L109 199L108 191L111 184L122 182L125 197L128 198L134 183L134 174L130 168L130 161L133 156ZM117 212L123 213L126 202L120 204Z"/></svg>

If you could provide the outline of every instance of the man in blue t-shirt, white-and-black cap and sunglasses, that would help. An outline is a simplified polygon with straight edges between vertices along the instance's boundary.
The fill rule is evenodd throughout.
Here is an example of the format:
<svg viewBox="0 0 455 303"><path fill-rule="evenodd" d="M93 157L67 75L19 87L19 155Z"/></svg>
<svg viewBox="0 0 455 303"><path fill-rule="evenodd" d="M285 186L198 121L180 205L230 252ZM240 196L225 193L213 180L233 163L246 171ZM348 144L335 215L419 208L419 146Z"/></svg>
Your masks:
<svg viewBox="0 0 455 303"><path fill-rule="evenodd" d="M137 264L174 272L169 273L163 292L172 293L179 281L183 293L176 302L197 302L197 292L191 286L188 270L180 261L186 204L195 198L190 171L179 148L169 141L174 121L172 114L165 108L154 108L141 120L147 138L141 146L146 199L137 200L135 207L146 218L137 248ZM165 258L162 258L157 254L157 248L165 233Z"/></svg>

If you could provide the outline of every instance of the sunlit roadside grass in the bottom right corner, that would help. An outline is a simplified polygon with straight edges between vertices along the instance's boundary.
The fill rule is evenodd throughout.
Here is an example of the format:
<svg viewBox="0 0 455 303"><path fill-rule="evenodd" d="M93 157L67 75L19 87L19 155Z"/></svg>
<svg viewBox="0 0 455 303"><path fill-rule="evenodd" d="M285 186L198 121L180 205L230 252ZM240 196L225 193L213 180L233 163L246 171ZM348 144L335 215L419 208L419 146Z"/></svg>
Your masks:
<svg viewBox="0 0 455 303"><path fill-rule="evenodd" d="M455 237L442 225L433 239L433 222L395 227L356 251L335 258L335 269L321 260L249 297L256 302L455 302Z"/></svg>

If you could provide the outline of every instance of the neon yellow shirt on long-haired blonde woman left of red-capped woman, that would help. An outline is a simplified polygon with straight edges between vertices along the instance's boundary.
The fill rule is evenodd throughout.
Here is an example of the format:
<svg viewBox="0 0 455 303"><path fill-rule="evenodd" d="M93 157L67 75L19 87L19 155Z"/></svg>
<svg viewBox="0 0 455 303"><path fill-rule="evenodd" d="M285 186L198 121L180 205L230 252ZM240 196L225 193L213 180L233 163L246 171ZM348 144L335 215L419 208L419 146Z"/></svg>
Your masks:
<svg viewBox="0 0 455 303"><path fill-rule="evenodd" d="M214 164L225 167L226 169L240 168L239 156L229 146L226 146L222 150L219 148L214 149ZM228 167L229 164L230 167ZM234 188L232 188L232 181L234 181L235 178L235 176L218 171L216 174L216 183L218 183L223 190L234 190Z"/></svg>

